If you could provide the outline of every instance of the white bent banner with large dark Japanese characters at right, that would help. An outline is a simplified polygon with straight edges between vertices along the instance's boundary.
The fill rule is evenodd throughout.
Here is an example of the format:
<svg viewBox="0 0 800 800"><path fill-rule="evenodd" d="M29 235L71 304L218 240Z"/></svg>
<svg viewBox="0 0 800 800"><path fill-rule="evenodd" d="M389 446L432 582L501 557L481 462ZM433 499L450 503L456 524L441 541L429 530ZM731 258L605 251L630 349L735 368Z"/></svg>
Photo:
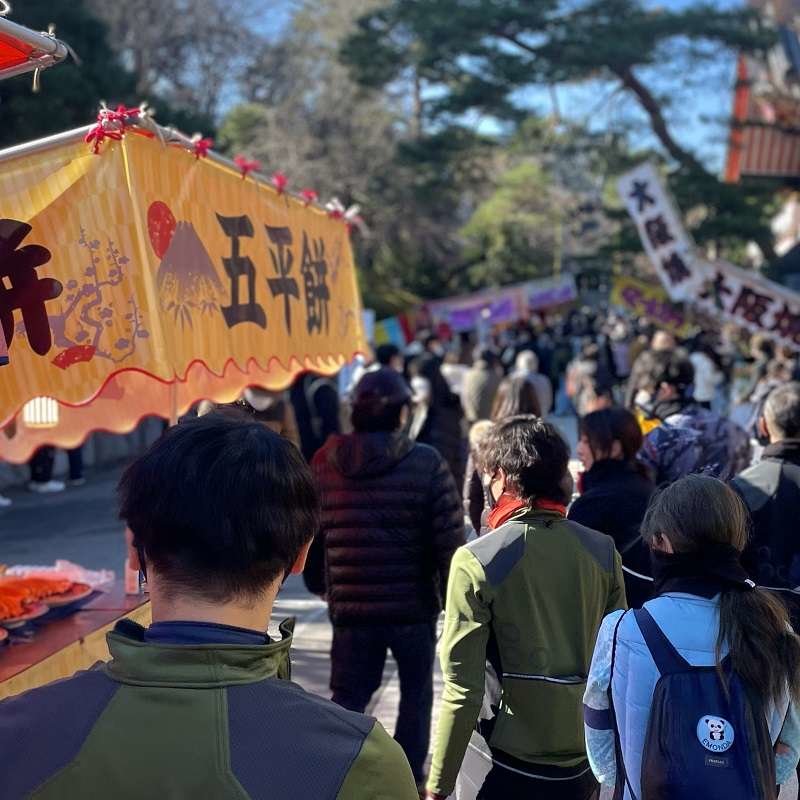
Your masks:
<svg viewBox="0 0 800 800"><path fill-rule="evenodd" d="M620 197L670 298L688 301L800 350L800 295L727 261L698 253L680 214L651 164L620 178Z"/></svg>

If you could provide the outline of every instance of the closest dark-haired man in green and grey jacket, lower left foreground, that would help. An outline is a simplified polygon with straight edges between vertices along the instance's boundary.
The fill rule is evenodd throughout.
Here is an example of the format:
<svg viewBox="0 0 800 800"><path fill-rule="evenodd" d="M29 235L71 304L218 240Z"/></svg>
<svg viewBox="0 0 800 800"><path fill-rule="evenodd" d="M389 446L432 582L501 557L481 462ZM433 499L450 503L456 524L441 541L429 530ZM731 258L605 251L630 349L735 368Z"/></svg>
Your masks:
<svg viewBox="0 0 800 800"><path fill-rule="evenodd" d="M319 524L311 472L259 422L170 429L119 487L153 624L108 635L111 661L0 703L0 798L418 800L374 720L289 680L275 597Z"/></svg>

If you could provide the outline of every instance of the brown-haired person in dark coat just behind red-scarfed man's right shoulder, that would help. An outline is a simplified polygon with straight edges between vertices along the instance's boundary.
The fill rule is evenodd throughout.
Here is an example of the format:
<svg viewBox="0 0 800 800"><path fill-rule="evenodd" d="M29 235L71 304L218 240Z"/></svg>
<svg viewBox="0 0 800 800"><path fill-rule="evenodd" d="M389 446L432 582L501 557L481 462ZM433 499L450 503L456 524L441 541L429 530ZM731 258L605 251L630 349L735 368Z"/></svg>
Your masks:
<svg viewBox="0 0 800 800"><path fill-rule="evenodd" d="M628 605L639 608L653 588L650 551L639 529L655 488L636 459L642 431L624 408L587 414L579 431L577 452L585 472L579 481L581 495L567 516L614 539L622 556Z"/></svg>

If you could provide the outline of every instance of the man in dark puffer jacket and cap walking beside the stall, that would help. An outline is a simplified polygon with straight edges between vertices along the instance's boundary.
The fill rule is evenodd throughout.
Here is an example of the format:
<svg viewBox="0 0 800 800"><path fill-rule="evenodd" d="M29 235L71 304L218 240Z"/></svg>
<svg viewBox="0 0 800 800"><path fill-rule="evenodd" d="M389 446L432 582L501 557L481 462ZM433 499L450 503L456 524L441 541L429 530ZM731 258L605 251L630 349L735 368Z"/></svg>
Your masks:
<svg viewBox="0 0 800 800"><path fill-rule="evenodd" d="M401 432L410 403L397 372L367 373L354 393L355 433L332 436L312 468L322 496L333 700L363 712L391 650L400 675L395 739L422 785L436 619L464 522L444 459Z"/></svg>

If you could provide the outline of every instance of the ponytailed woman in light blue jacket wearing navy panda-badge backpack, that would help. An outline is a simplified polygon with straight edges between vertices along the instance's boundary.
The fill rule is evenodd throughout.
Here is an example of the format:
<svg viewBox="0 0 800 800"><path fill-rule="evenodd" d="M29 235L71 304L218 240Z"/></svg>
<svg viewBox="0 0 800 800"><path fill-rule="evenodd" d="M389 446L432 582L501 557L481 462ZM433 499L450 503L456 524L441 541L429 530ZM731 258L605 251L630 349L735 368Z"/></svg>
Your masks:
<svg viewBox="0 0 800 800"><path fill-rule="evenodd" d="M774 798L798 762L800 638L740 564L744 504L689 475L653 497L642 536L655 597L606 617L587 681L595 775L625 800Z"/></svg>

